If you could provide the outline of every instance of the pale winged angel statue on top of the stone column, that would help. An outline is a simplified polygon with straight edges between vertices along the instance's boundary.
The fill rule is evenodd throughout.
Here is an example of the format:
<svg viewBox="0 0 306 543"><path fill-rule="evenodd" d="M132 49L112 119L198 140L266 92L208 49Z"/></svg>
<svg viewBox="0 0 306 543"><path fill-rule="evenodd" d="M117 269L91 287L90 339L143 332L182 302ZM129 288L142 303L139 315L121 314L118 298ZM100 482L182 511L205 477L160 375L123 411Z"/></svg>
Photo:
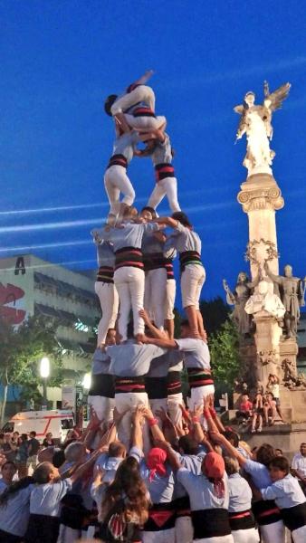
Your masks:
<svg viewBox="0 0 306 543"><path fill-rule="evenodd" d="M270 92L267 81L264 81L262 105L254 104L255 95L251 91L245 94L244 103L234 108L234 111L241 115L236 141L246 134L247 148L243 164L249 176L256 173L272 174L271 166L275 157L270 148L273 138L272 115L273 111L282 108L282 102L287 98L290 88L291 84L285 83Z"/></svg>

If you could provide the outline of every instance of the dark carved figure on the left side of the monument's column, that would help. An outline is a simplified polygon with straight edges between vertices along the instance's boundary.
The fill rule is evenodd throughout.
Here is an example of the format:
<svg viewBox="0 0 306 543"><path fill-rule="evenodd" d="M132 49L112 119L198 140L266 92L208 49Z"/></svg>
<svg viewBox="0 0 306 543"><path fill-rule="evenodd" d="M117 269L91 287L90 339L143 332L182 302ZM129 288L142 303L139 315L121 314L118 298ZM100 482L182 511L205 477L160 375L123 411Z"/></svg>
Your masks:
<svg viewBox="0 0 306 543"><path fill-rule="evenodd" d="M225 279L223 280L223 286L226 292L226 301L229 305L234 305L234 311L232 313L232 319L237 326L239 334L245 338L251 331L251 317L248 315L244 308L247 300L251 296L252 289L259 283L259 275L254 281L249 281L247 274L244 271L240 271L238 274L237 282L232 292Z"/></svg>

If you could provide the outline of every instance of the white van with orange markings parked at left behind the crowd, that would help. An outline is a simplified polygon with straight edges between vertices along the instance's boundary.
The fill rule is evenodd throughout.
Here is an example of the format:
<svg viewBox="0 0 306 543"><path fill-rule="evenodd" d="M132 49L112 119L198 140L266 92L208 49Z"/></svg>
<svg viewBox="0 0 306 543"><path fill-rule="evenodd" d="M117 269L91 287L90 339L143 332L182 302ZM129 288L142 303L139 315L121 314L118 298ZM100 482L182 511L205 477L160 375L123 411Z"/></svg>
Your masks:
<svg viewBox="0 0 306 543"><path fill-rule="evenodd" d="M36 432L36 439L43 443L47 433L53 434L55 442L63 442L68 431L74 426L72 411L53 409L51 411L21 411L5 424L2 432Z"/></svg>

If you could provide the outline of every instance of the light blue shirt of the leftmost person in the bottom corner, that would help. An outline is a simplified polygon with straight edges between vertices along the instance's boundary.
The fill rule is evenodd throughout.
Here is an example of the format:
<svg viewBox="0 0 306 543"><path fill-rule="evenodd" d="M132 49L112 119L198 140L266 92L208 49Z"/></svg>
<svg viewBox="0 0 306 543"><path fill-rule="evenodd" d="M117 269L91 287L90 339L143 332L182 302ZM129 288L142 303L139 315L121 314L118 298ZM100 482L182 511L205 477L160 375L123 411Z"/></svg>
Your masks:
<svg viewBox="0 0 306 543"><path fill-rule="evenodd" d="M0 496L0 543L24 540L30 517L33 477L13 482Z"/></svg>

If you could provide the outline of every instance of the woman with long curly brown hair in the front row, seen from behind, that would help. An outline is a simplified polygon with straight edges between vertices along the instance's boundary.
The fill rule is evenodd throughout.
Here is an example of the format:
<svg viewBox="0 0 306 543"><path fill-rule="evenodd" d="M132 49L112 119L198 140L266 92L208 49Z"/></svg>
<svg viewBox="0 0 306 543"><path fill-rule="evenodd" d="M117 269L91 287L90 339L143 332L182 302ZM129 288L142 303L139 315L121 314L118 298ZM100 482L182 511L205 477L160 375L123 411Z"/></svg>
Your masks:
<svg viewBox="0 0 306 543"><path fill-rule="evenodd" d="M139 474L139 463L120 463L110 486L105 484L101 507L100 538L104 541L141 541L140 528L148 519L149 497Z"/></svg>

